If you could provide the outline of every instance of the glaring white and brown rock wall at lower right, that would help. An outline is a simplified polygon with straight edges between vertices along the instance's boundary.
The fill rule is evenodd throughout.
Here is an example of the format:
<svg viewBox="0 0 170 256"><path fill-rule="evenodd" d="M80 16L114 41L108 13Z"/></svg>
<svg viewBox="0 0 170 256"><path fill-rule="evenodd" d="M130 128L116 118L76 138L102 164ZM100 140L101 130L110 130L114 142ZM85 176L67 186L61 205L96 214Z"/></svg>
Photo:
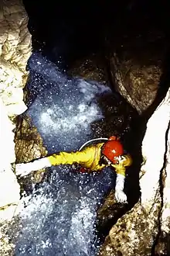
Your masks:
<svg viewBox="0 0 170 256"><path fill-rule="evenodd" d="M111 228L100 256L170 253L169 119L170 89L148 120L142 142L141 200Z"/></svg>

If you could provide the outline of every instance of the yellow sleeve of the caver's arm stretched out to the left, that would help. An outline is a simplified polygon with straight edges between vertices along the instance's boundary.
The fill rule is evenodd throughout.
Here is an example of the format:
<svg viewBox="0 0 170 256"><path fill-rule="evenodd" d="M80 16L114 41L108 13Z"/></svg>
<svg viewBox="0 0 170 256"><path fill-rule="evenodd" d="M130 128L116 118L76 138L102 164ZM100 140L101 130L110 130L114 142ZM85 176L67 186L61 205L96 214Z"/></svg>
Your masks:
<svg viewBox="0 0 170 256"><path fill-rule="evenodd" d="M81 164L88 161L88 154L86 151L77 151L77 152L59 152L58 154L53 154L48 157L50 164L59 165L59 164Z"/></svg>

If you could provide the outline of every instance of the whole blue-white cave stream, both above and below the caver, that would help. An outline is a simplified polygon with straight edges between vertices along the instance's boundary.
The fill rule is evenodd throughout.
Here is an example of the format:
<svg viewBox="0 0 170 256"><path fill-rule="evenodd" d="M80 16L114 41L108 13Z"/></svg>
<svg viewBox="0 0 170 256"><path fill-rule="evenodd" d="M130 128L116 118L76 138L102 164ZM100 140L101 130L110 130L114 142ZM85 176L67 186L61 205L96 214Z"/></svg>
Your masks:
<svg viewBox="0 0 170 256"><path fill-rule="evenodd" d="M109 87L68 78L41 54L32 54L28 67L26 114L49 154L79 150L93 138L128 133L131 113ZM110 168L96 174L80 174L72 166L49 168L46 180L22 197L20 225L16 233L12 230L15 255L96 255L97 208L114 181Z"/></svg>

